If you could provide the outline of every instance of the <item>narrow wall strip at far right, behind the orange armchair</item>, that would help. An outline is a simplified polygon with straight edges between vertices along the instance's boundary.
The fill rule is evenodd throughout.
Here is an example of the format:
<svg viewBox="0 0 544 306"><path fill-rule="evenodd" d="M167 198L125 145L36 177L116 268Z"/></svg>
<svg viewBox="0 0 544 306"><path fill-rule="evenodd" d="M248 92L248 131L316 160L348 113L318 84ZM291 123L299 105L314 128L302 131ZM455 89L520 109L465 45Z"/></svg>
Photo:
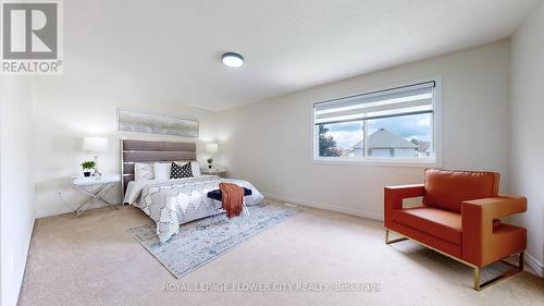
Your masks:
<svg viewBox="0 0 544 306"><path fill-rule="evenodd" d="M529 230L528 259L544 277L544 4L511 39L511 192L528 197L519 222Z"/></svg>

